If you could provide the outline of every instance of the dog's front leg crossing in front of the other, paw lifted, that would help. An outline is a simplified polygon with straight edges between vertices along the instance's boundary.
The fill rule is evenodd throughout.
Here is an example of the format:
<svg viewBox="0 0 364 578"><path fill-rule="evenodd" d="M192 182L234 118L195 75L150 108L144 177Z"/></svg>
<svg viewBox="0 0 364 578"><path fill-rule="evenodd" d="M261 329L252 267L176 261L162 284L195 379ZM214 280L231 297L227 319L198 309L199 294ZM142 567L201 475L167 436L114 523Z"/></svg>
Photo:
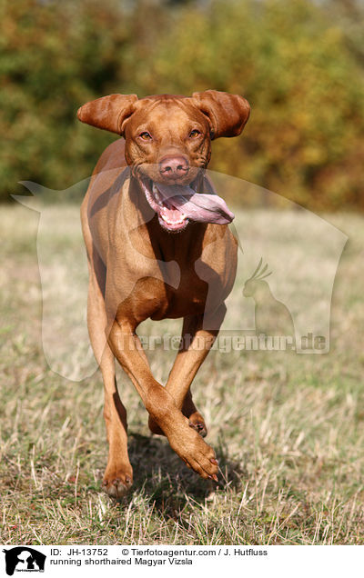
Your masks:
<svg viewBox="0 0 364 578"><path fill-rule="evenodd" d="M110 324L107 341L116 359L136 386L149 415L167 435L172 449L201 477L217 479L214 450L189 426L172 395L151 374L135 330L136 324L120 317Z"/></svg>

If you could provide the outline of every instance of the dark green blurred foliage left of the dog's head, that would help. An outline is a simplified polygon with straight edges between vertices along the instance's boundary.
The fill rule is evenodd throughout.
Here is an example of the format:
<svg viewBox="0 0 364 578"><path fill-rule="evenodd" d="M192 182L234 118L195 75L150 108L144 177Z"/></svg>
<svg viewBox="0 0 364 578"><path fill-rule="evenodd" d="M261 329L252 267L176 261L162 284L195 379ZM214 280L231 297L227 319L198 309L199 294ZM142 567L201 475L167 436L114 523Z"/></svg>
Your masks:
<svg viewBox="0 0 364 578"><path fill-rule="evenodd" d="M5 148L0 195L20 179L64 189L90 174L112 142L76 123L87 100L123 86L127 21L117 2L5 0L1 17L0 111Z"/></svg>

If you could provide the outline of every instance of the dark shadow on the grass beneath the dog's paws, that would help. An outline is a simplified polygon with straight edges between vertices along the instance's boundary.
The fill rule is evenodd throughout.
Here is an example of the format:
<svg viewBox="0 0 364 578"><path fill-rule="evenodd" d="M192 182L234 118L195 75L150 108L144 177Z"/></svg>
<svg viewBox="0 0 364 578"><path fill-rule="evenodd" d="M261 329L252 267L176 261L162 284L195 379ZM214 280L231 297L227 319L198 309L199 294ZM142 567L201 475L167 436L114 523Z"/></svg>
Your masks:
<svg viewBox="0 0 364 578"><path fill-rule="evenodd" d="M213 493L224 492L227 488L238 490L241 488L241 478L246 475L242 464L229 459L222 438L217 443L216 451L220 470L218 483L203 480L189 470L165 438L129 433L134 484L124 503L133 500L133 493L141 492L159 513L176 518L191 502L203 505Z"/></svg>

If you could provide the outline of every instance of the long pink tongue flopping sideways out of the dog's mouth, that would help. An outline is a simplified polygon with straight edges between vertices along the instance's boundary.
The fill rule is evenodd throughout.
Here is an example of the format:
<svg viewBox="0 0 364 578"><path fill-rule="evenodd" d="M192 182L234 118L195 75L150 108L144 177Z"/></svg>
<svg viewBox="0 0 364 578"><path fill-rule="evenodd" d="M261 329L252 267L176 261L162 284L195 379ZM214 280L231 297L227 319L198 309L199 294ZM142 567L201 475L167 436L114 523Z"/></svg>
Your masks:
<svg viewBox="0 0 364 578"><path fill-rule="evenodd" d="M192 221L199 223L227 224L235 215L217 194L195 193L189 186L181 184L157 184L159 193L168 204L177 208Z"/></svg>

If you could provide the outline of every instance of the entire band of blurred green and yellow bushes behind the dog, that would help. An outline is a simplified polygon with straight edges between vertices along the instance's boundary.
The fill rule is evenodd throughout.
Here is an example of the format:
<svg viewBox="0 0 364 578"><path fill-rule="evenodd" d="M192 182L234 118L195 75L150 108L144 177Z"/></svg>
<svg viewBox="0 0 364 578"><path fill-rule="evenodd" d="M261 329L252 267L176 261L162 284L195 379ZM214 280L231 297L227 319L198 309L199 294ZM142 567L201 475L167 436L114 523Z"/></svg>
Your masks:
<svg viewBox="0 0 364 578"><path fill-rule="evenodd" d="M0 15L0 200L19 180L66 189L91 174L115 135L76 121L86 101L215 88L252 115L210 168L314 210L364 209L360 4L3 0Z"/></svg>

